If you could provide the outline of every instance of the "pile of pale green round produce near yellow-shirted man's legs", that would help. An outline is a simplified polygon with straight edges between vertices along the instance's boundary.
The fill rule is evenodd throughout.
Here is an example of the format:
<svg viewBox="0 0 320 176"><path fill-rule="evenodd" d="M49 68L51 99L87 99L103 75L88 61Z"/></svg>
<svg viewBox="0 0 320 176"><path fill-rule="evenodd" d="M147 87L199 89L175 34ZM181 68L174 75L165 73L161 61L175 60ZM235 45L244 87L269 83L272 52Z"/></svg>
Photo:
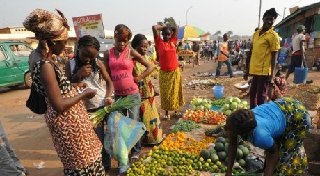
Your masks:
<svg viewBox="0 0 320 176"><path fill-rule="evenodd" d="M233 111L237 109L248 109L250 106L247 101L241 101L238 97L227 97L225 99L225 104L220 109L220 112L225 115L230 115Z"/></svg>

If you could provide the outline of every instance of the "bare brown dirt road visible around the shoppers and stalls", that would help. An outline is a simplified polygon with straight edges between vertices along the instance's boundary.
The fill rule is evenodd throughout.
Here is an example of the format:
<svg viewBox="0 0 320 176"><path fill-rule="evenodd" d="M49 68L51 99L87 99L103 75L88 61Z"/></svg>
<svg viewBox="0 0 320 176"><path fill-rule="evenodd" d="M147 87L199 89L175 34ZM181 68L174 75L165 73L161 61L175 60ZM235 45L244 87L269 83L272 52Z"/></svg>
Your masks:
<svg viewBox="0 0 320 176"><path fill-rule="evenodd" d="M210 61L209 63L202 63L202 65L193 68L192 65L186 64L184 72L182 72L183 83L188 83L191 79L214 79L214 77L198 77L197 72L214 72L216 70L216 63ZM223 67L222 71L227 71L227 67ZM319 72L310 72L308 77L314 79L314 85L320 85ZM292 84L293 74L289 77L289 83ZM235 79L222 77L221 80L225 81L225 96L239 96L239 90L234 88L234 83L243 81L242 76L236 76ZM157 81L155 81L157 85ZM212 97L212 90L190 90L184 86L184 98L186 103L194 95L204 97ZM63 166L54 149L51 136L43 119L43 115L35 115L26 108L25 102L29 97L30 90L9 88L0 89L0 121L5 128L6 134L9 138L10 144L15 149L17 156L22 161L22 164L31 176L54 176L63 175ZM287 91L287 95L293 95L294 88ZM159 97L156 99L158 110L161 110L159 104ZM180 110L183 111L186 106ZM175 124L176 119L170 121L163 121L163 129L166 134L170 133L169 127ZM149 150L145 147L143 151ZM37 169L33 163L45 162L44 168ZM113 162L113 169L110 175L116 173L116 163Z"/></svg>

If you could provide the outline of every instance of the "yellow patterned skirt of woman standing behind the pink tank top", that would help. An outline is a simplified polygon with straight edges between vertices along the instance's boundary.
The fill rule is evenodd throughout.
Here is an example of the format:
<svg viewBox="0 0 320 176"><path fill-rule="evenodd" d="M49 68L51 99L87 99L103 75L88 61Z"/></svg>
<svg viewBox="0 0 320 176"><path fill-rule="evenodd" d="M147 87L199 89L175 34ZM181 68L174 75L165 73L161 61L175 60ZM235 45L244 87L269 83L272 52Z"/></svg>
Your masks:
<svg viewBox="0 0 320 176"><path fill-rule="evenodd" d="M163 131L158 115L154 97L141 99L140 119L145 124L147 132L142 137L142 142L147 144L157 144L163 139Z"/></svg>

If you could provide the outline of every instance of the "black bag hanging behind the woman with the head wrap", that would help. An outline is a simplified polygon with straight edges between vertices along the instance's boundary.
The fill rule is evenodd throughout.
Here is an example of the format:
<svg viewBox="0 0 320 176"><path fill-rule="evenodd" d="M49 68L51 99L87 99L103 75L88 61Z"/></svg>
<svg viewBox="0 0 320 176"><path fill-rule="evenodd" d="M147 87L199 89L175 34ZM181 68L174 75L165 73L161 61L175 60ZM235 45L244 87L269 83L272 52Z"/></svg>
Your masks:
<svg viewBox="0 0 320 176"><path fill-rule="evenodd" d="M31 85L29 98L26 100L26 106L36 114L44 114L47 111L45 97L35 90L33 83Z"/></svg>

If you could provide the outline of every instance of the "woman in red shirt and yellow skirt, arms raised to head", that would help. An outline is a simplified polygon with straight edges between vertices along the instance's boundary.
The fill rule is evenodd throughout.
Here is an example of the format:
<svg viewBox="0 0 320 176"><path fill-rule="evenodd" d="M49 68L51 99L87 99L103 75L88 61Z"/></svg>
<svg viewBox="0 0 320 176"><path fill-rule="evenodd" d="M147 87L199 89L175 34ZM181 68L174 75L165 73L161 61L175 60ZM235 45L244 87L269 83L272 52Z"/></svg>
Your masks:
<svg viewBox="0 0 320 176"><path fill-rule="evenodd" d="M165 24L152 26L154 42L159 54L160 72L159 86L161 108L166 111L165 117L170 119L168 111L177 111L184 105L182 95L182 78L177 60L175 44L178 28L171 28ZM162 31L163 40L159 31Z"/></svg>

